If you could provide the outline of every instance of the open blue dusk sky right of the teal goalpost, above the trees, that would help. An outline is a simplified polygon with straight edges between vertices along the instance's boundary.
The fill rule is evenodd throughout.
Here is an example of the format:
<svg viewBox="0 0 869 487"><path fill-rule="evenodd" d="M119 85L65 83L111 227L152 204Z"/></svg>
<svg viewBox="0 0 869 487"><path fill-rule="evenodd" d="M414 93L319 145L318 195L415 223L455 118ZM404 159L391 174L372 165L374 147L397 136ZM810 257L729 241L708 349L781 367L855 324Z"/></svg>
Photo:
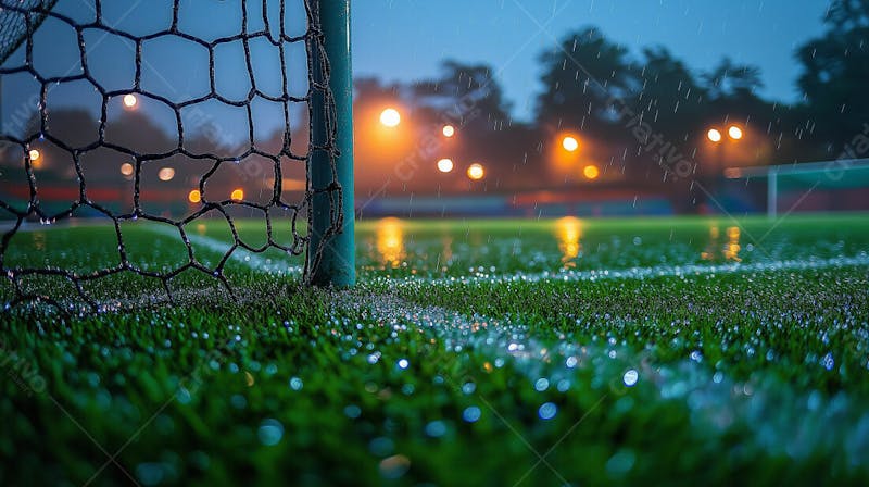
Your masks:
<svg viewBox="0 0 869 487"><path fill-rule="evenodd" d="M538 55L596 25L633 52L663 45L693 68L725 54L763 70L764 95L795 101L796 46L823 30L822 0L355 0L357 76L411 80L444 58L486 62L525 118L539 91ZM543 28L541 28L541 26Z"/></svg>

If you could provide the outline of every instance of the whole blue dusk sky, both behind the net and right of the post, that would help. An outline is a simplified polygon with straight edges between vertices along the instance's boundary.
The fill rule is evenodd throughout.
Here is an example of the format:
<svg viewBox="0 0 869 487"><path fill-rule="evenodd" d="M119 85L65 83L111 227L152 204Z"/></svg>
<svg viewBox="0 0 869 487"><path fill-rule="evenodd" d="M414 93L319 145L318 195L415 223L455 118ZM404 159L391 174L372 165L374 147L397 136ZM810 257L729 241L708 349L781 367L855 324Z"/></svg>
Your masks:
<svg viewBox="0 0 869 487"><path fill-rule="evenodd" d="M86 23L93 16L92 1L60 0L55 9ZM256 13L261 4L259 0L248 1L252 30L262 28L262 15ZM288 4L291 34L302 34L301 0ZM106 24L141 35L168 26L169 5L169 0L109 1L103 2L103 15ZM180 5L180 27L185 32L217 38L240 30L239 0L181 0ZM273 25L277 25L278 2L269 5L275 7L270 16ZM527 120L541 88L540 53L554 49L556 40L568 32L596 25L634 53L645 46L663 45L697 70L713 67L725 54L736 62L758 65L767 85L763 95L795 101L801 96L795 87L799 66L793 52L796 46L823 30L821 17L826 9L822 0L353 0L354 67L356 76L410 82L438 75L444 59L488 63L514 102L514 114ZM40 73L80 73L72 28L49 20L36 37L35 63ZM134 45L104 32L88 32L85 38L91 72L102 86L131 88ZM278 95L277 50L261 39L252 42L251 51L257 85ZM293 95L304 96L304 46L289 47L287 55ZM143 88L176 101L207 92L204 48L161 38L148 42L143 57ZM224 46L215 57L218 91L232 100L243 100L250 82L240 45ZM20 50L10 64L22 62ZM38 85L26 74L10 76L5 82L4 101L28 103L39 92ZM121 110L117 103L110 107L110 116ZM20 104L4 103L4 124ZM96 114L99 97L85 82L50 89L49 107L70 104L89 107ZM228 137L247 136L243 109L212 105L216 103L209 102L204 109L227 122L225 125L238 127L238 134ZM280 123L280 113L269 111L267 103L255 101L253 109L257 136L270 134ZM142 110L164 126L174 125L165 107L152 108L143 101Z"/></svg>

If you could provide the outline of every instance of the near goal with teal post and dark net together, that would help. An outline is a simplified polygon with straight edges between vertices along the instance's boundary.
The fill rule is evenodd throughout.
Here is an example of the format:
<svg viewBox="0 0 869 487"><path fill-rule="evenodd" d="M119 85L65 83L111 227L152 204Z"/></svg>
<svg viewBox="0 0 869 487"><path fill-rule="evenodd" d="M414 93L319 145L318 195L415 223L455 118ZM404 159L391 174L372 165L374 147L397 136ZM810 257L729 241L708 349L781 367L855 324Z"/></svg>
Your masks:
<svg viewBox="0 0 869 487"><path fill-rule="evenodd" d="M162 30L149 32L137 25L135 12L127 22L111 18L111 9L97 9L96 18L80 20L64 13L61 7L54 9L54 3L55 0L0 0L0 83L13 76L29 76L35 85L34 95L21 98L33 100L33 105L26 108L33 111L35 122L4 124L0 130L0 142L18 151L7 153L24 154L20 170L26 176L16 183L23 187L12 188L14 190L9 190L12 183L0 180L0 218L12 221L4 225L8 229L0 235L0 275L14 294L10 305L42 301L68 309L53 297L27 288L25 280L33 276L73 283L75 299L92 310L98 308L100 296L87 291L86 286L81 286L85 280L136 274L161 282L172 297L171 279L189 271L201 273L205 278L216 277L219 284L229 286L224 264L237 250L260 253L277 249L288 255L303 257L302 273L307 284L337 287L355 284L350 0L232 2L224 7L224 13L229 12L248 23L235 24L232 28L238 30L232 35L217 35L223 32L221 27L212 27L201 20L191 21L192 9L182 0L134 7L140 9L142 15L162 10L154 13L153 18L174 20L171 25L160 27ZM188 24L196 25L179 28L176 23L184 24L185 16ZM67 65L55 65L65 64L68 59L61 60L45 48L38 48L40 42L45 46L45 38L55 38L52 37L56 34L54 30L72 32L79 40L85 39L66 50L78 51L72 57L76 61L72 70ZM184 34L179 35L179 30ZM123 64L115 58L118 51L101 60L99 49L88 49L92 35L115 36L124 40L117 46L129 48L128 53L123 53L134 66L128 86L118 85L112 77L116 70L111 67ZM40 36L41 41L35 41ZM247 49L249 43L262 49ZM219 65L219 60L229 62L226 61L229 49L240 47L243 47L243 57L232 58L231 63L236 64L229 64L231 68ZM275 54L274 63L261 55L266 49ZM201 92L193 96L182 91L196 91L194 88L182 90L166 83L167 78L179 77L177 63L172 67L172 63L161 65L160 60L166 58L166 52L188 57L185 61L192 66L190 76L203 76L203 79L190 79L190 86L199 83ZM110 68L97 70L95 66L100 64ZM106 75L108 72L112 75ZM226 79L231 76L236 77ZM162 82L152 83L154 79ZM249 89L241 95L229 92L237 82L248 83ZM85 84L91 89L83 90L80 86ZM70 140L73 136L64 135L63 123L52 120L49 126L49 102L53 104L52 100L62 98L61 93L79 105L91 103L76 105L92 113L92 120L97 121L95 140L87 146ZM149 120L153 123L149 126L151 132L141 130L140 134L136 120L117 116L115 105L122 110L143 109L138 116L151 117L158 111L171 116L162 122L156 117ZM240 123L224 120L232 110L243 113ZM52 110L52 116L56 116L55 113L62 110ZM275 113L282 115L275 116ZM297 120L308 129L297 126ZM245 123L247 126L237 130L241 142L224 137L225 132ZM72 124L66 122L66 128ZM266 135L259 135L263 132L261 128L254 130L257 125L279 135L261 140ZM213 129L215 126L219 129ZM87 128L81 127L83 130ZM155 130L163 135L149 135ZM147 137L151 139L141 140ZM45 154L41 158L28 155L36 154L29 153L30 145L42 140L52 147L52 166L46 166L51 177L37 184L34 171L39 167L32 160L46 158ZM124 159L118 161L118 154ZM87 160L97 162L81 162ZM209 164L209 167L194 172L191 167L202 167L197 164ZM247 164L261 164L260 167L266 166L270 173L265 176L256 171L245 173ZM297 176L297 171L303 172L304 177ZM162 185L160 189L149 179L154 174ZM122 191L131 192L121 198L129 201L130 207L124 207L117 199L99 200L117 193L118 186L108 183L112 176L133 182L121 186ZM302 179L301 187L291 184L297 177ZM67 191L74 193L68 201L58 201L61 197L53 197L55 200L49 205L46 191L58 180L77 185L78 190ZM149 198L172 201L153 208L149 204L163 200L147 202ZM182 211L188 213L177 214ZM266 245L251 246L232 232L231 239L221 247L225 253L218 259L219 264L216 267L204 265L187 238L188 225L198 228L202 220L212 218L223 220L235 228L234 217L240 215L263 218L267 228ZM109 220L117 228L117 264L85 272L13 266L4 259L9 242L16 240L15 234L27 222L54 223L85 216ZM155 232L154 238L174 235L187 247L181 255L186 263L165 272L149 272L130 260L122 234L124 228L143 224L168 229L163 234ZM277 232L278 226L288 232Z"/></svg>

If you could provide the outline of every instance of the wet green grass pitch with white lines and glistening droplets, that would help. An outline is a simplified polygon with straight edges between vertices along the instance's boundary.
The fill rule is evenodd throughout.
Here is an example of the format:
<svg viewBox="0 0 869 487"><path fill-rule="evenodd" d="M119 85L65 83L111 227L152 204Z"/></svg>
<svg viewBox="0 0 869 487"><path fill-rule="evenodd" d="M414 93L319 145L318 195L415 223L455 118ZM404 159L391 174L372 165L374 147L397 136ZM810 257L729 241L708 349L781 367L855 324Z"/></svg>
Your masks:
<svg viewBox="0 0 869 487"><path fill-rule="evenodd" d="M360 227L352 291L239 252L234 296L122 278L96 315L2 315L0 485L869 483L867 215ZM108 230L28 229L7 265L111 264ZM215 265L226 229L196 236Z"/></svg>

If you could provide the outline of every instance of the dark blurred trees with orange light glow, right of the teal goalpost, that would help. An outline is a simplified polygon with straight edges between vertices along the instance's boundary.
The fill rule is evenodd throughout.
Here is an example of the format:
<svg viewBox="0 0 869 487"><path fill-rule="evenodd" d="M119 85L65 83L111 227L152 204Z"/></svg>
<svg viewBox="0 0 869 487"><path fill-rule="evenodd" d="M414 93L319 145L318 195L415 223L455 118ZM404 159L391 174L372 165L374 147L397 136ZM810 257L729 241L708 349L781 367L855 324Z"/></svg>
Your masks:
<svg viewBox="0 0 869 487"><path fill-rule="evenodd" d="M492 189L539 187L544 179L545 186L569 186L572 176L552 161L563 133L579 136L584 160L609 175L602 182L634 187L679 179L675 154L683 166L691 164L692 175L720 174L721 165L835 159L869 122L869 0L834 1L824 23L822 36L794 52L802 66L795 84L803 93L795 104L760 96L756 66L725 58L701 72L663 47L632 53L595 27L564 36L540 55L544 89L530 123L512 118L511 102L484 64L446 61L441 76L414 84L361 79L361 183L377 188L377 180L391 178L402 190L424 190L432 182L427 176L437 176L432 161L450 157L486 161ZM385 149L367 121L378 107L394 102L411 114L417 134L414 142L393 140ZM461 137L431 140L446 123L457 126ZM722 154L706 134L730 125L745 137ZM468 185L462 177L438 182L444 189Z"/></svg>

